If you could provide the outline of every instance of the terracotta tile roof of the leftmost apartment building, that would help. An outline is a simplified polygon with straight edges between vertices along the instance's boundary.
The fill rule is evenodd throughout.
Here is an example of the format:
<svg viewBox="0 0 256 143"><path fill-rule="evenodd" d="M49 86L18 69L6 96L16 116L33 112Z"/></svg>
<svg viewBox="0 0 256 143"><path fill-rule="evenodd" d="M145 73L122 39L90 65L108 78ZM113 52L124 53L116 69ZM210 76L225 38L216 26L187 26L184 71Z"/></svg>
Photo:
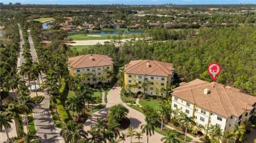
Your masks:
<svg viewBox="0 0 256 143"><path fill-rule="evenodd" d="M111 57L98 54L87 54L68 58L68 65L74 69L113 65L113 63Z"/></svg>

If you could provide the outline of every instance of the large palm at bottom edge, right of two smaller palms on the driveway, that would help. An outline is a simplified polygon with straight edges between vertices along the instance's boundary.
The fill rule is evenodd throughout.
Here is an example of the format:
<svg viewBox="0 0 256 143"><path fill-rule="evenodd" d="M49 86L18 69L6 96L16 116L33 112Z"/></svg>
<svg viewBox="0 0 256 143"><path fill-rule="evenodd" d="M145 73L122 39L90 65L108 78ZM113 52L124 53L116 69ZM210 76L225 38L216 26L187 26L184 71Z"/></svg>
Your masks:
<svg viewBox="0 0 256 143"><path fill-rule="evenodd" d="M146 117L145 119L146 124L141 125L140 129L142 129L142 133L146 133L146 142L148 143L148 135L152 136L152 134L154 135L154 131L155 131L155 121L151 118Z"/></svg>

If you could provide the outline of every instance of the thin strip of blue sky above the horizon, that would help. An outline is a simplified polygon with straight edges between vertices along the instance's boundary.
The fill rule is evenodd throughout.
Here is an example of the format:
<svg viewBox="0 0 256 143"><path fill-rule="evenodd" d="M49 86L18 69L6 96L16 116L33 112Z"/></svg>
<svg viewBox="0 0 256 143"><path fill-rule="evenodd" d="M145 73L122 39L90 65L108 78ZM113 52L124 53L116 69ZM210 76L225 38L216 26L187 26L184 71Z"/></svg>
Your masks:
<svg viewBox="0 0 256 143"><path fill-rule="evenodd" d="M253 3L255 0L0 0L1 3L22 3L22 4L58 4L58 5L101 5L120 3L124 5L161 5L174 3L176 5L207 5L207 4L244 4Z"/></svg>

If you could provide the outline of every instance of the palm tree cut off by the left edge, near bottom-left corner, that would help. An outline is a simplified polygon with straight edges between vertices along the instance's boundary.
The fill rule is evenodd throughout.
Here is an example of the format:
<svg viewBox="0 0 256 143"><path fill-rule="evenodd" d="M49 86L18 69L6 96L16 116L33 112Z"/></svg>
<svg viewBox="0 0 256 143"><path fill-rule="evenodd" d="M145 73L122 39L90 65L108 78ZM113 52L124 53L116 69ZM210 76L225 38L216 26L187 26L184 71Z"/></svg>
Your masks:
<svg viewBox="0 0 256 143"><path fill-rule="evenodd" d="M7 129L11 128L12 118L8 116L5 112L0 111L0 131L3 131L3 127L5 128L5 133L7 135L7 142L10 142L9 134Z"/></svg>

